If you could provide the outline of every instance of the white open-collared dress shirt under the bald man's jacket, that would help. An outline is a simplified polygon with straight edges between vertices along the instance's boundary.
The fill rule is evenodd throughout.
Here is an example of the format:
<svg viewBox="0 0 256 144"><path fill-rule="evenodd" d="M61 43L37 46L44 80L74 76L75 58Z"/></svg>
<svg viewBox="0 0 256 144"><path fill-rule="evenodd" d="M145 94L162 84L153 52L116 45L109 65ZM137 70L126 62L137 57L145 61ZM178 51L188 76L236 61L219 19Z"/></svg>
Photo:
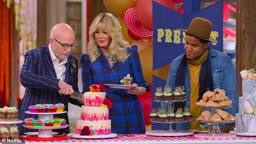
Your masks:
<svg viewBox="0 0 256 144"><path fill-rule="evenodd" d="M64 81L65 75L66 75L66 63L67 63L67 58L63 59L61 62L57 57L54 55L52 52L52 49L50 47L50 44L48 46L49 51L50 51L50 57L52 58L52 63L54 65L55 73L58 79L61 81Z"/></svg>

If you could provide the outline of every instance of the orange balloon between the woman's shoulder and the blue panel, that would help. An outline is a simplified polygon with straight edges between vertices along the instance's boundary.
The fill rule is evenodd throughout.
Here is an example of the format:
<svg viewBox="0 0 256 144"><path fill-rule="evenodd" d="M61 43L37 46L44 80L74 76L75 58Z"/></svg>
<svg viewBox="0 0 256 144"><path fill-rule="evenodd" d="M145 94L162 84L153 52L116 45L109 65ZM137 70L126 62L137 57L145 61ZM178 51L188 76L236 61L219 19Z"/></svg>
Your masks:
<svg viewBox="0 0 256 144"><path fill-rule="evenodd" d="M143 49L138 53L141 59L141 66L145 80L149 85L152 85L153 81L153 47Z"/></svg>

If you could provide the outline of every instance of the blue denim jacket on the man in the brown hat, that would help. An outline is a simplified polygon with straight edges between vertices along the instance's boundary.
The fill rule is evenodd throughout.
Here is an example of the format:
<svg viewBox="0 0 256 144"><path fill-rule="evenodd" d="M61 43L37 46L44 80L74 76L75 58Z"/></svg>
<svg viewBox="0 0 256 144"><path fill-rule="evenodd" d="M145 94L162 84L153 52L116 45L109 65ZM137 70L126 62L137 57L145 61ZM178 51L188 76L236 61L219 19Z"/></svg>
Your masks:
<svg viewBox="0 0 256 144"><path fill-rule="evenodd" d="M174 87L176 73L180 65L180 61L183 58L184 54L185 53L183 53L182 55L180 55L179 57L177 57L172 61L166 85ZM229 99L232 101L232 107L229 109L226 109L225 111L229 112L232 116L235 116L235 114L238 113L238 93L237 93L237 79L235 74L235 67L231 61L231 58L228 55L225 55L224 53L220 51L216 51L211 48L210 48L209 54L210 54L210 64L211 64L211 70L212 70L212 79L213 79L214 89L220 88L226 91L226 96L229 97ZM187 65L185 75L186 75L185 93L187 95L185 106L190 107L189 64ZM162 107L165 109L168 109L168 103L162 103ZM189 125L190 125L189 122L176 123L174 124L174 129L187 130L189 129ZM235 126L235 122L231 124L226 124L226 125ZM219 124L219 126L225 126L225 125ZM161 127L162 129L169 129L168 124L162 124Z"/></svg>

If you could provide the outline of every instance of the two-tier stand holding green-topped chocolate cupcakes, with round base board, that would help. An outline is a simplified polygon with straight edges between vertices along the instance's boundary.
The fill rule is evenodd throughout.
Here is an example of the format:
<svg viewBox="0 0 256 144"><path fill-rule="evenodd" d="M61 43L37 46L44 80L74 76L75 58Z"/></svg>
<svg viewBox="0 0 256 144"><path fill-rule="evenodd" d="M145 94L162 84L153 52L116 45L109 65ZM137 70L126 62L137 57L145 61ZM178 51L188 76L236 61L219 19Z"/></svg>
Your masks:
<svg viewBox="0 0 256 144"><path fill-rule="evenodd" d="M181 102L181 101L186 101L186 99L182 100L155 100L155 102L168 102L169 107L172 107L173 102ZM151 122L156 122L156 123L168 123L170 129L169 130L151 130L147 131L146 134L150 136L188 136L194 134L193 132L189 131L182 131L182 130L173 130L172 126L174 123L183 123L183 122L191 122L192 119L189 120L151 120Z"/></svg>

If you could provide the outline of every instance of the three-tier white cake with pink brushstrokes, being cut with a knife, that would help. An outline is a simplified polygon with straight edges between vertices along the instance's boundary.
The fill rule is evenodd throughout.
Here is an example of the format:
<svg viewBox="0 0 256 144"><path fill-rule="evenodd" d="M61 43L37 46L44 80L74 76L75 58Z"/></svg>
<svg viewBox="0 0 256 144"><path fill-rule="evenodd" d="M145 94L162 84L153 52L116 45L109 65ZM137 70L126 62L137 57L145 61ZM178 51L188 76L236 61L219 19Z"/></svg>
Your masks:
<svg viewBox="0 0 256 144"><path fill-rule="evenodd" d="M76 134L80 134L84 126L90 127L90 131L94 132L94 135L110 134L109 109L101 106L105 95L105 92L84 93L84 105L81 108L80 120L76 122Z"/></svg>

